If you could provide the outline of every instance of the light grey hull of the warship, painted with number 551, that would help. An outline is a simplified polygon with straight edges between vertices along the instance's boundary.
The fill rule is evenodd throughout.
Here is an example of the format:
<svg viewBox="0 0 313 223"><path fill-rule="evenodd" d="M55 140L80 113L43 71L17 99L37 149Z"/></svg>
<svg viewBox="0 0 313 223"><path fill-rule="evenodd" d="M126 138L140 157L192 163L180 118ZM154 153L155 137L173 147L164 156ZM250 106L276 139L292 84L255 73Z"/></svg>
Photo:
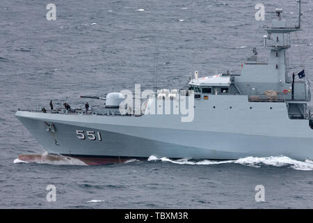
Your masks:
<svg viewBox="0 0 313 223"><path fill-rule="evenodd" d="M229 105L235 106L230 109ZM286 103L248 102L242 95L195 100L195 117L189 123L182 123L179 115L87 116L23 111L15 115L48 153L212 160L285 155L313 160L313 130L308 120L289 119ZM52 124L54 131L47 130ZM95 137L90 138L95 139L87 135L79 139L77 130L94 132Z"/></svg>

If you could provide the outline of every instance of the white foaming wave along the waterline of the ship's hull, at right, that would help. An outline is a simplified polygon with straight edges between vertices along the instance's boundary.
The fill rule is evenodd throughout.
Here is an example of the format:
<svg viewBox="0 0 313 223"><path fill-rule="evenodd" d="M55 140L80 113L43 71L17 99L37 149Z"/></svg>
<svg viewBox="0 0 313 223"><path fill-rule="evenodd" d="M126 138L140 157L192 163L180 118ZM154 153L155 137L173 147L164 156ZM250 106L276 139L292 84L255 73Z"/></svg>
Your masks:
<svg viewBox="0 0 313 223"><path fill-rule="evenodd" d="M148 161L162 161L162 162L172 162L174 164L190 164L190 165L211 165L211 164L241 164L248 167L290 167L296 170L312 171L313 161L312 160L293 160L290 157L283 155L271 156L271 157L244 157L239 160L225 160L225 161L215 161L215 160L191 160L190 158L183 158L179 160L171 160L167 157L156 157L151 155Z"/></svg>

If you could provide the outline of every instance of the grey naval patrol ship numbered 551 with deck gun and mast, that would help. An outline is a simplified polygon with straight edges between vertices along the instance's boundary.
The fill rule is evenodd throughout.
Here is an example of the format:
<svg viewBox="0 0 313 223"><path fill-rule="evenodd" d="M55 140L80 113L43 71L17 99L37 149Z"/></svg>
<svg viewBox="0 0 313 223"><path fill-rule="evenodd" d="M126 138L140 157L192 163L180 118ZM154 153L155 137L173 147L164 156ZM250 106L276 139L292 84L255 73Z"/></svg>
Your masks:
<svg viewBox="0 0 313 223"><path fill-rule="evenodd" d="M47 153L77 157L86 164L150 155L211 160L284 155L313 160L310 82L304 70L289 73L286 56L290 33L300 30L300 1L293 25L282 20L282 9L275 13L271 26L263 27L268 63L259 61L253 49L241 74L198 77L195 72L188 91L154 92L139 112L125 104L123 93L109 93L103 108L87 114L83 109L19 109L15 116ZM185 114L173 112L183 100L193 109L189 121L182 121ZM170 112L155 114L159 101L169 102ZM30 157L19 156L25 161Z"/></svg>

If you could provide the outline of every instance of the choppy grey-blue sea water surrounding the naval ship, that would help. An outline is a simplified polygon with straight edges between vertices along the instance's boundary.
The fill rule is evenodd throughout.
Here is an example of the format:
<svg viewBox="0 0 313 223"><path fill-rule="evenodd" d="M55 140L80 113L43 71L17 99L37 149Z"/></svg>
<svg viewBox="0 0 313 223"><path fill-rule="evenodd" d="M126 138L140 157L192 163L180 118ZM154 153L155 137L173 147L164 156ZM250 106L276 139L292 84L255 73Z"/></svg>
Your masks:
<svg viewBox="0 0 313 223"><path fill-rule="evenodd" d="M302 2L303 31L291 34L288 56L290 72L305 68L312 82L313 3ZM46 19L48 3L56 21ZM310 160L14 162L45 152L15 118L17 107L78 107L79 95L152 89L156 61L157 86L175 89L194 70L240 72L255 46L266 60L256 3L267 22L275 8L296 20L293 0L0 0L0 208L313 208ZM47 185L56 186L56 202L46 200ZM256 185L264 185L264 202L255 201Z"/></svg>

